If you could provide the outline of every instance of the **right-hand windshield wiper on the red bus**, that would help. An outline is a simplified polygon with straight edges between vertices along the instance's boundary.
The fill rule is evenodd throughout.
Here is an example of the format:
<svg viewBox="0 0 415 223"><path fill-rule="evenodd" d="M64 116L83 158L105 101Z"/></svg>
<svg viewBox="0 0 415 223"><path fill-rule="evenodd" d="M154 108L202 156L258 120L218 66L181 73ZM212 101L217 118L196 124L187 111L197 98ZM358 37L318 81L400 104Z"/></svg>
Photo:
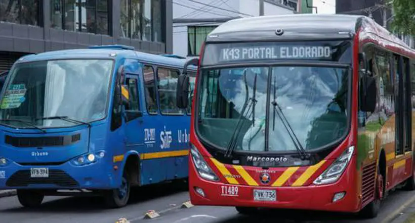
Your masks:
<svg viewBox="0 0 415 223"><path fill-rule="evenodd" d="M271 104L274 107L274 110L273 110L274 117L273 117L273 120L272 120L272 122L273 122L272 130L274 131L274 129L275 129L275 113L277 113L277 115L280 118L282 124L284 125L285 129L287 130L289 137L293 141L294 146L296 147L301 159L304 160L304 159L310 158L310 154L306 153L306 150L304 149L303 145L301 145L300 140L298 140L296 133L294 133L293 128L289 124L288 120L285 118L285 115L282 112L281 107L277 103L277 100L276 100L276 77L275 76L274 76L274 99L271 102ZM278 107L278 109L277 109L277 107Z"/></svg>

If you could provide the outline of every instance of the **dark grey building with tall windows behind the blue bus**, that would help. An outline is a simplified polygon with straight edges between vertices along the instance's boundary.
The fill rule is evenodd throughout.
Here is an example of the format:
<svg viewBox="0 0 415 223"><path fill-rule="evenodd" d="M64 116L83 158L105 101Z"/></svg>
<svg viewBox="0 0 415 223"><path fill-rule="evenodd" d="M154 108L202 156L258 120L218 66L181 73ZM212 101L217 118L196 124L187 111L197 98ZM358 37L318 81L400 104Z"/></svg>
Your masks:
<svg viewBox="0 0 415 223"><path fill-rule="evenodd" d="M172 53L170 0L0 0L0 72L22 55L125 44Z"/></svg>

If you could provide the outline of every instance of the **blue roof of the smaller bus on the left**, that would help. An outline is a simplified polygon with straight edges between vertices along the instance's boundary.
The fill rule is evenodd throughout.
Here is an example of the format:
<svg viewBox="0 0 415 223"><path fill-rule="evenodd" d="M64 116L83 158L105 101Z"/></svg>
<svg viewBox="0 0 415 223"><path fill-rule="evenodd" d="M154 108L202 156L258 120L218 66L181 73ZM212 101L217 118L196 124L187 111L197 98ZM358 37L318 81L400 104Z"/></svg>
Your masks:
<svg viewBox="0 0 415 223"><path fill-rule="evenodd" d="M114 56L115 54L115 56ZM140 52L129 48L111 47L111 45L93 46L86 49L63 49L42 52L38 54L29 54L20 58L17 63L44 61L44 60L64 60L64 59L137 59L141 63L164 65L168 67L183 68L186 59L177 57L176 55L157 55L146 52ZM189 66L191 70L195 70L195 66Z"/></svg>

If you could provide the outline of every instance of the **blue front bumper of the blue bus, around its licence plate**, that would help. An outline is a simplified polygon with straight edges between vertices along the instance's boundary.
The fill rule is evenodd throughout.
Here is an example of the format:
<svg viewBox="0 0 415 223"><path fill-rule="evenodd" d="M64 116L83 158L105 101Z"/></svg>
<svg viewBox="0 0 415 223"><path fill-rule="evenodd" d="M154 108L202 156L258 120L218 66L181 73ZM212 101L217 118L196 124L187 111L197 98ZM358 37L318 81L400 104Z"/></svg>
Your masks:
<svg viewBox="0 0 415 223"><path fill-rule="evenodd" d="M49 168L49 177L32 178L31 168ZM10 162L0 166L2 189L113 189L120 183L113 166L98 160L83 166L70 161L60 165L20 165Z"/></svg>

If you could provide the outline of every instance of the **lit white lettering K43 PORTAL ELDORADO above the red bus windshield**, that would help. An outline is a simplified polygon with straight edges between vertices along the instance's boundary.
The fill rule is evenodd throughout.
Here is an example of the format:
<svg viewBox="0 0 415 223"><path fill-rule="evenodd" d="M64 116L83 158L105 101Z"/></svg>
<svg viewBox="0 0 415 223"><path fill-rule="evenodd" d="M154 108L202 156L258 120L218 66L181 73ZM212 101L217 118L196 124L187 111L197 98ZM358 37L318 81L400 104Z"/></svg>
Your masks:
<svg viewBox="0 0 415 223"><path fill-rule="evenodd" d="M331 59L330 46L245 46L222 48L220 61Z"/></svg>

